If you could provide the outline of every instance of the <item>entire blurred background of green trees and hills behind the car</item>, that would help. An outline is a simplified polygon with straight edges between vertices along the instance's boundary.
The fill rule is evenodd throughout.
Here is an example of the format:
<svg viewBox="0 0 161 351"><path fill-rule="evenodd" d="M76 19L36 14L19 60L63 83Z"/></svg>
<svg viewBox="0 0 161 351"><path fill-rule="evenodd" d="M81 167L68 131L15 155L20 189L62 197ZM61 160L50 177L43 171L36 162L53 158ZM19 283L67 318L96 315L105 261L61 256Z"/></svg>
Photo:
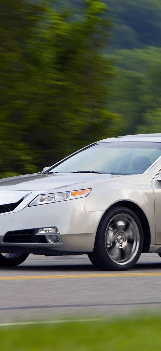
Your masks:
<svg viewBox="0 0 161 351"><path fill-rule="evenodd" d="M161 132L160 38L160 0L1 0L0 177Z"/></svg>

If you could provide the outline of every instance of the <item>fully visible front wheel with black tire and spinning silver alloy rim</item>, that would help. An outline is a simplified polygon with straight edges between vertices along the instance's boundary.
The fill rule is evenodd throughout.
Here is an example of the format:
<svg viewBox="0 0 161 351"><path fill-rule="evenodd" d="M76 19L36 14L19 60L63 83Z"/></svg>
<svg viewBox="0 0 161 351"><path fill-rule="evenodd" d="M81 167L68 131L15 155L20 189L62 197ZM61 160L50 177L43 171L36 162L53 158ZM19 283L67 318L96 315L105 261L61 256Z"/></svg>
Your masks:
<svg viewBox="0 0 161 351"><path fill-rule="evenodd" d="M126 207L111 208L98 227L90 261L101 270L124 271L136 264L144 235L139 218Z"/></svg>

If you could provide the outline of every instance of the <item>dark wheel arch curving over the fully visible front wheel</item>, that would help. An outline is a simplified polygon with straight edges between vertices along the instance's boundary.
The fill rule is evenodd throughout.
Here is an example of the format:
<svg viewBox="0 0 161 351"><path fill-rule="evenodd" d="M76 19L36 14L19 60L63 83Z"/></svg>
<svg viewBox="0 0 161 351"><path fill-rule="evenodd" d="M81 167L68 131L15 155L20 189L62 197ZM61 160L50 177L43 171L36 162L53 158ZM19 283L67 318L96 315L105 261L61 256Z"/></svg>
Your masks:
<svg viewBox="0 0 161 351"><path fill-rule="evenodd" d="M149 248L150 248L150 244L151 244L151 231L150 231L150 226L149 226L149 222L148 219L144 213L144 211L142 211L142 209L134 204L132 201L127 201L127 200L123 200L123 201L118 201L117 203L111 205L103 214L100 223L98 225L97 231L99 230L99 227L102 223L103 218L107 215L107 213L109 212L109 210L111 210L113 207L116 206L123 206L126 208L129 208L131 211L133 211L137 217L140 220L140 223L142 225L142 230L143 230L143 234L144 234L144 244L143 244L143 248L142 248L142 252L148 252Z"/></svg>

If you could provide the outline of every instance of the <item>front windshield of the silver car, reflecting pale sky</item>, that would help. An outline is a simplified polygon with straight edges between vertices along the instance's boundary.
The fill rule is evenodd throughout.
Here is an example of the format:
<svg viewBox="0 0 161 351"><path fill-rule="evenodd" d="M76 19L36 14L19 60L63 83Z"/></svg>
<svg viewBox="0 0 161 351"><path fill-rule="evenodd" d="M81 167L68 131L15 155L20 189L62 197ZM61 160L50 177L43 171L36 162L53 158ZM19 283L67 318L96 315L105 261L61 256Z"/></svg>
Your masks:
<svg viewBox="0 0 161 351"><path fill-rule="evenodd" d="M161 143L103 142L70 156L52 172L144 173L161 155Z"/></svg>

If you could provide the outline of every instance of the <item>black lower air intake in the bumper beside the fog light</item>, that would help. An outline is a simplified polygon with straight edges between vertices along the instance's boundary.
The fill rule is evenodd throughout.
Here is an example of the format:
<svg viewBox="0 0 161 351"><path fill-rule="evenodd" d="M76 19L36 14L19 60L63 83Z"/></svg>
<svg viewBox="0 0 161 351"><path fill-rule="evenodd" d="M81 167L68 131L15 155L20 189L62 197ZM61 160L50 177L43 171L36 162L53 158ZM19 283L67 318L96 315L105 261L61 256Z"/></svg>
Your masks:
<svg viewBox="0 0 161 351"><path fill-rule="evenodd" d="M45 235L36 235L38 229L15 230L7 232L3 238L3 243L40 243L46 244Z"/></svg>

